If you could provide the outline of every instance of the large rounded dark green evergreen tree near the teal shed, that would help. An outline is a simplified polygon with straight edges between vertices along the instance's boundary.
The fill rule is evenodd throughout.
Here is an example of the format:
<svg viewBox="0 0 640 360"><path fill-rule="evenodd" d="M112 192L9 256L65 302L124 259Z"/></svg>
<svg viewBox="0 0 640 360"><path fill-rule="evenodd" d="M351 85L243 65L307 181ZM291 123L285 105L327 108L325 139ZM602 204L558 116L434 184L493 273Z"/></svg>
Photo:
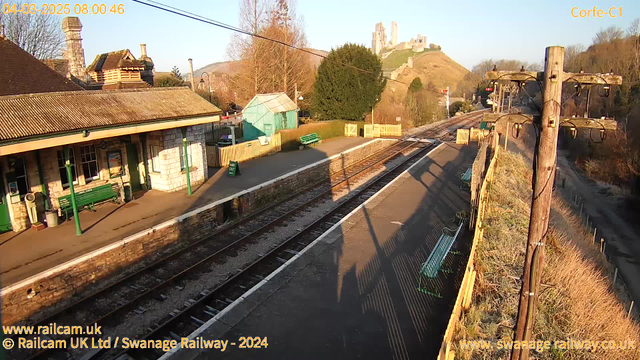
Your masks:
<svg viewBox="0 0 640 360"><path fill-rule="evenodd" d="M332 50L318 68L313 110L322 120L363 120L386 82L376 55L364 46L345 44Z"/></svg>

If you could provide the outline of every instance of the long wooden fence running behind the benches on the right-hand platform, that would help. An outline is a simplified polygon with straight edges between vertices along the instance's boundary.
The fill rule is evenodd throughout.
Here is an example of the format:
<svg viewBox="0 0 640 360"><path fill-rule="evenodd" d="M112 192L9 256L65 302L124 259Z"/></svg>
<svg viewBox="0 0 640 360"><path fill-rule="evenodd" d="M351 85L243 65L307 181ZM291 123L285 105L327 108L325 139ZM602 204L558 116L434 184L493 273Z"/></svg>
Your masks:
<svg viewBox="0 0 640 360"><path fill-rule="evenodd" d="M471 306L471 300L473 297L473 286L476 281L476 270L473 266L473 259L476 252L477 244L482 240L484 235L483 228L483 219L484 219L484 211L487 206L487 187L489 183L493 180L493 172L496 168L496 160L498 158L499 146L497 144L497 133L493 132L493 137L491 138L490 143L493 147L493 156L491 158L491 162L487 167L486 174L484 174L482 185L478 184L480 187L480 191L478 193L477 199L472 199L471 208L472 208L472 216L475 213L475 220L472 220L474 223L474 235L473 242L471 244L471 252L469 253L469 260L467 261L467 266L464 272L464 278L462 279L462 284L460 284L460 289L458 290L458 296L456 298L456 302L453 306L453 311L451 312L451 317L449 318L449 324L447 325L447 330L444 333L444 339L442 340L442 344L440 345L440 352L438 353L438 360L453 360L455 358L455 352L451 350L451 341L453 339L453 333L456 328L456 323L458 319L460 319L460 313L462 309L468 310ZM484 142L482 144L483 147L486 147L489 144L489 141ZM486 161L486 151L478 151L478 157L474 164L481 163ZM484 156L484 158L482 158ZM474 169L474 172L480 173L484 172L481 169Z"/></svg>

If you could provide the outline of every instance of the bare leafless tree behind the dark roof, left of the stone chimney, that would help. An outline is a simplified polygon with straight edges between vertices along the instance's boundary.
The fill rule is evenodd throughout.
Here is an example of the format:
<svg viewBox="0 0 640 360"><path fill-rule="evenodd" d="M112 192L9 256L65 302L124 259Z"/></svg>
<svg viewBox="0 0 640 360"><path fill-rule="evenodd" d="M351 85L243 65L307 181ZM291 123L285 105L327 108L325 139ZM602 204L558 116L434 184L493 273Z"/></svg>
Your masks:
<svg viewBox="0 0 640 360"><path fill-rule="evenodd" d="M26 3L0 0L0 9L4 4L22 9ZM62 55L64 34L58 17L40 12L4 14L0 11L0 24L5 26L7 39L38 59L52 59Z"/></svg>

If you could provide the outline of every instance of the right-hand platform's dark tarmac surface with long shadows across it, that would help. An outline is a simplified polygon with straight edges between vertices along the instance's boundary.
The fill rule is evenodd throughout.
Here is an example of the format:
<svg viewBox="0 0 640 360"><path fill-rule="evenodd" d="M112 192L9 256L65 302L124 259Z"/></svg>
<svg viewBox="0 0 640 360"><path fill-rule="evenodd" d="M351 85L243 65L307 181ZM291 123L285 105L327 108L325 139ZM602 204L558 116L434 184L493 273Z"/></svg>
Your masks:
<svg viewBox="0 0 640 360"><path fill-rule="evenodd" d="M200 329L199 337L230 345L197 358L437 357L466 256L447 256L443 266L454 273L438 278L442 299L417 291L417 275L442 228L451 226L458 211L468 211L469 193L461 190L460 176L476 151L473 145L442 144L410 175L323 234L219 321ZM454 250L468 254L471 237L467 231ZM268 346L240 349L242 336L266 337Z"/></svg>

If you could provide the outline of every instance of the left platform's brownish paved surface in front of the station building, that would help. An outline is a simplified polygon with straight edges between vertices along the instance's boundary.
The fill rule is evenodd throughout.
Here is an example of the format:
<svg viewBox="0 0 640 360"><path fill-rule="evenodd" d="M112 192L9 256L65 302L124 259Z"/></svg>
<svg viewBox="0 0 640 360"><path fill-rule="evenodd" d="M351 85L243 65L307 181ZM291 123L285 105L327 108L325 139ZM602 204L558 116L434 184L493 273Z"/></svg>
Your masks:
<svg viewBox="0 0 640 360"><path fill-rule="evenodd" d="M0 289L30 276L122 240L139 231L179 216L213 201L286 175L371 139L339 137L302 151L281 152L240 163L241 175L229 177L226 168L209 168L209 179L193 189L164 193L136 193L124 204L105 203L95 212L79 214L83 234L75 235L74 222L42 231L0 234Z"/></svg>

